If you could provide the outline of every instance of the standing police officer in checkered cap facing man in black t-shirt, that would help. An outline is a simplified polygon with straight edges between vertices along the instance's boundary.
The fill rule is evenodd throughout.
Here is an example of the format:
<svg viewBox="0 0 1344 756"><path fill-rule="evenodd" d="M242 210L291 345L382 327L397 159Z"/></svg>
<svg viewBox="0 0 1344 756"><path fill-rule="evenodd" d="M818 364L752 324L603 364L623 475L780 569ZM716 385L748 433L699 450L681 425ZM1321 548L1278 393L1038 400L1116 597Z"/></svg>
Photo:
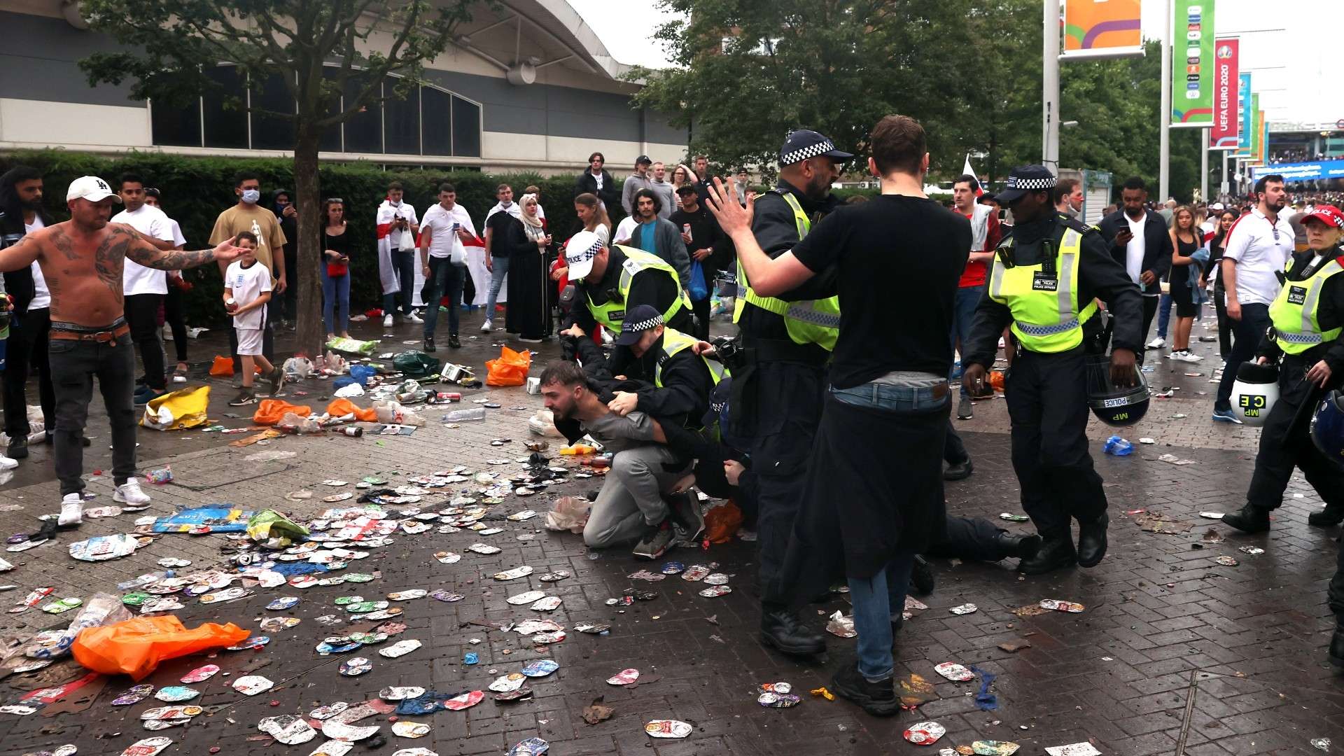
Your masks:
<svg viewBox="0 0 1344 756"><path fill-rule="evenodd" d="M853 155L800 129L780 148L780 182L757 198L751 233L771 258L793 249L840 204L831 184ZM761 546L761 636L788 654L818 654L821 635L800 624L774 585L793 530L812 439L821 421L827 362L840 332L833 277L816 276L782 297L765 297L738 264L732 322L741 350L732 367L734 433L747 439L757 474Z"/></svg>

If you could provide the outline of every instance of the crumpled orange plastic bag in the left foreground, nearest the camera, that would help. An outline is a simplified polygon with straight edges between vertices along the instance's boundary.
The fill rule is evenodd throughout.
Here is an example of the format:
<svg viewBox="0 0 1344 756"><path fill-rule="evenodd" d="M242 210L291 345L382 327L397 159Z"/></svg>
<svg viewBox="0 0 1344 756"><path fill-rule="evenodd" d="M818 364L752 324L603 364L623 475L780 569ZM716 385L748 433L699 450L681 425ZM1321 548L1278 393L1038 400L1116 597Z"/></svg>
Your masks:
<svg viewBox="0 0 1344 756"><path fill-rule="evenodd" d="M181 620L168 615L134 617L103 627L79 631L70 651L85 667L102 674L128 674L141 681L164 659L176 659L196 651L237 646L251 631L234 623L206 623L187 630Z"/></svg>

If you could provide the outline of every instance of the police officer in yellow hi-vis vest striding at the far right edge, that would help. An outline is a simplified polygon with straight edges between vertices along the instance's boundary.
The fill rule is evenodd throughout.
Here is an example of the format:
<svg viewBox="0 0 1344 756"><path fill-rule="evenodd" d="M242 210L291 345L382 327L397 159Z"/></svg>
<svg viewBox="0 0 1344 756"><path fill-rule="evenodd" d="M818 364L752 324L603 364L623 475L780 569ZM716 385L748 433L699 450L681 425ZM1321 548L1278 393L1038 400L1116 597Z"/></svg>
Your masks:
<svg viewBox="0 0 1344 756"><path fill-rule="evenodd" d="M1259 362L1278 369L1278 401L1261 429L1255 472L1246 491L1246 506L1227 513L1223 522L1243 531L1269 530L1269 513L1284 503L1284 490L1293 467L1325 502L1312 513L1312 525L1344 521L1344 467L1328 460L1308 437L1308 417L1327 389L1344 377L1344 257L1340 238L1344 214L1317 204L1302 218L1306 252L1293 254L1288 276L1269 307L1273 328L1259 348ZM1331 644L1331 659L1344 665L1344 572L1331 581L1331 608L1340 617ZM1339 654L1336 654L1339 651Z"/></svg>

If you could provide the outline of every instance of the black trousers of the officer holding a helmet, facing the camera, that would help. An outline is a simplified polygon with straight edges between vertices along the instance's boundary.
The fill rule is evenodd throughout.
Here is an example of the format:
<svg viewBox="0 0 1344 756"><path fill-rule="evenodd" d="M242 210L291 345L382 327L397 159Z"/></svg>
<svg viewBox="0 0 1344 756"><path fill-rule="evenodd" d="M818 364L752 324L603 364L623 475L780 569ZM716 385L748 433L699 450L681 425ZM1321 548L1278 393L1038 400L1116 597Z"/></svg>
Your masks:
<svg viewBox="0 0 1344 756"><path fill-rule="evenodd" d="M1042 537L1067 537L1068 518L1091 522L1106 513L1106 492L1087 451L1083 351L1021 350L1004 389L1021 507Z"/></svg>

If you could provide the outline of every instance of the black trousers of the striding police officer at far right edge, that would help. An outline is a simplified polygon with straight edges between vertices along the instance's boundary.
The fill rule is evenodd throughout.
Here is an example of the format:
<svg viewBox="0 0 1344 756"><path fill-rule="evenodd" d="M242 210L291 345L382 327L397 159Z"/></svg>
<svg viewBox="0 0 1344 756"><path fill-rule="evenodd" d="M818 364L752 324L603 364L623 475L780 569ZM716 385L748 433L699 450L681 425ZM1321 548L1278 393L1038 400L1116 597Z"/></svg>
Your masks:
<svg viewBox="0 0 1344 756"><path fill-rule="evenodd" d="M1278 401L1269 410L1261 428L1261 445L1255 453L1255 472L1246 491L1246 500L1258 508L1274 510L1284 503L1284 490L1297 467L1306 482L1329 506L1344 506L1344 465L1321 455L1308 433L1304 418L1293 428L1298 409L1312 412L1321 390L1302 381L1316 361L1284 358L1278 373ZM1302 408L1304 404L1313 406Z"/></svg>

